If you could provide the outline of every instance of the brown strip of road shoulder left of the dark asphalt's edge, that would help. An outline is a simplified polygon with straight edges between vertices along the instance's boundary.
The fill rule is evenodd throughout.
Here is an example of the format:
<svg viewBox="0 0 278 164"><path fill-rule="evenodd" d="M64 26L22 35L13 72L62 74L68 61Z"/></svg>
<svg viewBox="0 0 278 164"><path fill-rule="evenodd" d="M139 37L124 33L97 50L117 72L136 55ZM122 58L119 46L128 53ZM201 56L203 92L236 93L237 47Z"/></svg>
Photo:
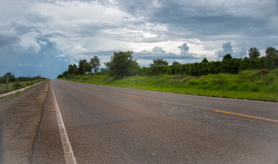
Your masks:
<svg viewBox="0 0 278 164"><path fill-rule="evenodd" d="M29 163L49 81L0 102L0 163Z"/></svg>

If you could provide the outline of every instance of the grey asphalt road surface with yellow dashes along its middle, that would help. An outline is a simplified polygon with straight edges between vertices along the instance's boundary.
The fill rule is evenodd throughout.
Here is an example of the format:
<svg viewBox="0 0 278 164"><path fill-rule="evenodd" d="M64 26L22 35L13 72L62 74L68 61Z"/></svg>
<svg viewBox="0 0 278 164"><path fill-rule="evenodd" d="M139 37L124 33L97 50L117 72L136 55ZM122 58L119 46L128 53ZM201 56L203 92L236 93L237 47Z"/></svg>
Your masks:
<svg viewBox="0 0 278 164"><path fill-rule="evenodd" d="M59 80L31 163L66 163L53 91L77 163L278 163L278 103Z"/></svg>

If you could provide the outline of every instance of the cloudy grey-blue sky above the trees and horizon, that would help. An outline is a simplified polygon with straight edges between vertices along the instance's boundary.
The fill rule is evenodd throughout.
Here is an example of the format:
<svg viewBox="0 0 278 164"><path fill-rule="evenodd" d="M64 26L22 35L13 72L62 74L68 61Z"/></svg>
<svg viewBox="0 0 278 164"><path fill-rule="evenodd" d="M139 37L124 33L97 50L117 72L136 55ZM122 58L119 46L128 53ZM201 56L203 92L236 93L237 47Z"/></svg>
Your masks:
<svg viewBox="0 0 278 164"><path fill-rule="evenodd" d="M140 66L278 49L277 0L0 0L0 76L56 78L69 64L134 51Z"/></svg>

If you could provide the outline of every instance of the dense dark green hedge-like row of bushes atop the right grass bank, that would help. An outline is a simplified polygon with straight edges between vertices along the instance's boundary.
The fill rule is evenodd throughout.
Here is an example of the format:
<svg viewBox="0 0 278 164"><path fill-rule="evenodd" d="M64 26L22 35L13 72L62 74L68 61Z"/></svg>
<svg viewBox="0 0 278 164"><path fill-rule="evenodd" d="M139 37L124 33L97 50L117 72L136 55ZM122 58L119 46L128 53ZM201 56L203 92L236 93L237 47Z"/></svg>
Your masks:
<svg viewBox="0 0 278 164"><path fill-rule="evenodd" d="M238 74L242 70L273 70L278 68L278 56L244 59L223 59L223 61L210 61L193 64L176 64L166 66L166 74L188 74L190 76L203 76L206 74L230 73ZM141 68L142 69L142 68ZM147 68L144 68L144 74Z"/></svg>

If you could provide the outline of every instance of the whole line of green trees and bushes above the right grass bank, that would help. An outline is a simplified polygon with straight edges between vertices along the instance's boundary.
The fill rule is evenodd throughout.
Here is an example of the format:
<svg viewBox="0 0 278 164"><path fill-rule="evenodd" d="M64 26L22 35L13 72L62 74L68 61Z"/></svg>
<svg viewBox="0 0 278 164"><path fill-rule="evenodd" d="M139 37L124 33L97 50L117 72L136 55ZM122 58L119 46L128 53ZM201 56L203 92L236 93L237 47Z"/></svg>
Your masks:
<svg viewBox="0 0 278 164"><path fill-rule="evenodd" d="M106 68L98 72L100 60L97 56L87 62L85 59L79 61L79 67L75 64L69 65L68 70L60 74L60 77L73 77L77 74L85 74L92 70L96 74L108 74L116 79L133 76L152 76L157 74L188 74L190 76L203 76L205 74L230 73L238 74L242 70L273 70L278 68L278 51L274 47L266 49L266 57L260 57L260 51L251 47L249 49L249 57L244 59L236 59L231 54L224 55L222 61L208 61L206 58L201 63L180 64L174 61L168 66L168 61L162 59L153 59L153 63L149 67L140 68L138 62L133 57L132 51L114 52L110 61L105 63ZM98 73L97 73L98 72Z"/></svg>

